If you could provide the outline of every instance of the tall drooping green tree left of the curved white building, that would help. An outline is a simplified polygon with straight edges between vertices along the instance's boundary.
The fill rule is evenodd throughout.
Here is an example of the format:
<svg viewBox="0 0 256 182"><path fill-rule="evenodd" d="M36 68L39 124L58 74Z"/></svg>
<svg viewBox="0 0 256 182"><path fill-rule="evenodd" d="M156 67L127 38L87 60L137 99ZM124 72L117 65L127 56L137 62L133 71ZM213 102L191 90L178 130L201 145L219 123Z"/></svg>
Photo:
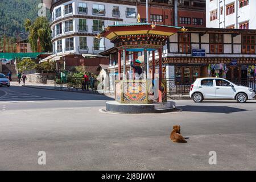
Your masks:
<svg viewBox="0 0 256 182"><path fill-rule="evenodd" d="M49 21L46 17L38 17L34 23L32 23L30 19L26 19L24 27L29 31L28 40L31 44L32 51L38 51L38 38L40 39L42 52L51 51L51 28L49 27Z"/></svg>

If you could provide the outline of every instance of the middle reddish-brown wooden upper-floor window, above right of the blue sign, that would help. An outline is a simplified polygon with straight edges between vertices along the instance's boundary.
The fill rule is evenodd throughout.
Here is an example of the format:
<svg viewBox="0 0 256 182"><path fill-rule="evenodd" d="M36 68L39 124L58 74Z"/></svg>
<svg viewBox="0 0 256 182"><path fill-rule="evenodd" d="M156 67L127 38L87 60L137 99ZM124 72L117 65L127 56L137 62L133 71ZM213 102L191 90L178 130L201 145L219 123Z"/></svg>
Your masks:
<svg viewBox="0 0 256 182"><path fill-rule="evenodd" d="M210 53L223 53L223 34L210 34Z"/></svg>

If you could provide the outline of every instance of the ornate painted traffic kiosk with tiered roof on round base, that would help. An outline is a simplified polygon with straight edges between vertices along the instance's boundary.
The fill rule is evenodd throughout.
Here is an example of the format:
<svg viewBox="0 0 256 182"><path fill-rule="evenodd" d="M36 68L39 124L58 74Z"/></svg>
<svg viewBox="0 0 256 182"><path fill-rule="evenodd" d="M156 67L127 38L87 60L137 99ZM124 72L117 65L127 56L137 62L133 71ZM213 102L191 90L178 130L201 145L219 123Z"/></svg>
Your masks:
<svg viewBox="0 0 256 182"><path fill-rule="evenodd" d="M115 101L106 102L107 111L154 113L175 107L174 102L167 102L167 85L162 76L162 50L169 36L178 30L183 31L184 28L141 23L138 15L138 23L108 26L98 34L97 38L109 39L118 49ZM126 60L126 52L132 53L131 62ZM143 61L137 59L138 52L144 52ZM156 63L158 74L155 74ZM133 73L129 74L129 70Z"/></svg>

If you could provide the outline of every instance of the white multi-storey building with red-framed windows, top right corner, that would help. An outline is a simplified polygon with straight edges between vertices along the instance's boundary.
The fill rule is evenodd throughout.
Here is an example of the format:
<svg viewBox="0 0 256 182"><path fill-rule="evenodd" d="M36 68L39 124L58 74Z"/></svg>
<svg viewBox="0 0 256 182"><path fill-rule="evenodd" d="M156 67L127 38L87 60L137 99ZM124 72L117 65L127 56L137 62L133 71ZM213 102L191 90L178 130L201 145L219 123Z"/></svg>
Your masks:
<svg viewBox="0 0 256 182"><path fill-rule="evenodd" d="M256 28L256 1L207 0L207 27Z"/></svg>

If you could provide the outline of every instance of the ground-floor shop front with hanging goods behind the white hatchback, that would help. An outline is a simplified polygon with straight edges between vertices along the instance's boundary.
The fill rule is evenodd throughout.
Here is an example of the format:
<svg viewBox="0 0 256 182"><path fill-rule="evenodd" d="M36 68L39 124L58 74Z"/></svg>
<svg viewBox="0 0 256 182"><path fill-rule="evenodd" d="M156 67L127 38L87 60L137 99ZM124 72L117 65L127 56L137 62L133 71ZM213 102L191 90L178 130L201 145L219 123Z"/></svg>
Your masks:
<svg viewBox="0 0 256 182"><path fill-rule="evenodd" d="M190 85L201 77L221 77L234 84L256 90L256 62L247 58L167 57L163 61L167 85L171 93L188 93ZM173 71L168 71L172 67Z"/></svg>

